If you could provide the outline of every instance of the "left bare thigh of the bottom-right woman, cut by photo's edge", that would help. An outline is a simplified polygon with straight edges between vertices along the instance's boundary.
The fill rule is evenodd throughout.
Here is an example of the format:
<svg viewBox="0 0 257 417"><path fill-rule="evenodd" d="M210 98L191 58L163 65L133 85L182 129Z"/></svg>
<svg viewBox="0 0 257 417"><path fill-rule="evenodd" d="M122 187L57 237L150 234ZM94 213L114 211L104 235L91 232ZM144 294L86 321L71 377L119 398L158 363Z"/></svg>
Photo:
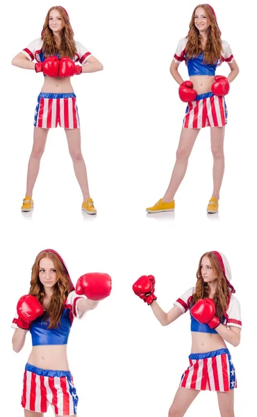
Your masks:
<svg viewBox="0 0 257 417"><path fill-rule="evenodd" d="M188 389L179 386L178 391L172 402L172 406L169 409L169 417L183 417L185 412L190 407L190 404L194 401L200 391L196 389Z"/></svg>

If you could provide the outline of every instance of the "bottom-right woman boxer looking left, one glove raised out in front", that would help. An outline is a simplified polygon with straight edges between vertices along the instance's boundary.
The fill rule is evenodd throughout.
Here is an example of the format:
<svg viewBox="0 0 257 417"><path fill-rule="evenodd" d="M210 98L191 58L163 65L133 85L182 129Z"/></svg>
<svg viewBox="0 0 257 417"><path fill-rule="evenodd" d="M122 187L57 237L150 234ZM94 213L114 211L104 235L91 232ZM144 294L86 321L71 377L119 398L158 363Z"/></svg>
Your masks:
<svg viewBox="0 0 257 417"><path fill-rule="evenodd" d="M231 270L226 257L220 252L206 252L199 261L196 286L179 297L168 313L156 302L152 275L142 276L133 284L134 293L151 305L163 326L190 311L190 364L181 377L169 417L184 416L194 398L206 389L217 392L221 416L234 416L233 399L237 381L226 341L238 346L242 322L240 304L233 295L235 289L230 280Z"/></svg>

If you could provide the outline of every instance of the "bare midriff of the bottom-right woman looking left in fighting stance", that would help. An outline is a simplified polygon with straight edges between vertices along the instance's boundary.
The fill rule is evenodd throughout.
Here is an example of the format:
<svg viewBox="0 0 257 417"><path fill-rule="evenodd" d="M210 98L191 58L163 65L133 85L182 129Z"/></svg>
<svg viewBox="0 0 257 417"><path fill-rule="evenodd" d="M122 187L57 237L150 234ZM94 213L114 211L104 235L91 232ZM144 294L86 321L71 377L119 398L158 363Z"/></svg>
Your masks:
<svg viewBox="0 0 257 417"><path fill-rule="evenodd" d="M226 349L226 343L219 334L191 332L192 349L191 353L205 353L212 350Z"/></svg>

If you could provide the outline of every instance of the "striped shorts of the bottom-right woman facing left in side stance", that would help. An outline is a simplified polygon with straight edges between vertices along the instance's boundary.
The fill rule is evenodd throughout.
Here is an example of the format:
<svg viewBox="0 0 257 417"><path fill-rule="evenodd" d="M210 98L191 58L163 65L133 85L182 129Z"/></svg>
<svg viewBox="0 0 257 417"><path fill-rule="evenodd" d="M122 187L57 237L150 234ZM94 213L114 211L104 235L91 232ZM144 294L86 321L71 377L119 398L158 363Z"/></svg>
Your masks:
<svg viewBox="0 0 257 417"><path fill-rule="evenodd" d="M222 392L237 388L235 368L228 349L192 353L189 363L179 384L183 388Z"/></svg>

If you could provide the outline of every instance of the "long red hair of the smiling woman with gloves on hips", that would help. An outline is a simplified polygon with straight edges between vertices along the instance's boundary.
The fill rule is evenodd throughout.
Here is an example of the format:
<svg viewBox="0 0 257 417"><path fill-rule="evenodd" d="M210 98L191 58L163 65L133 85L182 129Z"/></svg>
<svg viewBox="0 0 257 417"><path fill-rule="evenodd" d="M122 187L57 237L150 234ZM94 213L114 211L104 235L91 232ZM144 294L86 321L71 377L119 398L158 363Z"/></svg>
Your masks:
<svg viewBox="0 0 257 417"><path fill-rule="evenodd" d="M204 62L207 64L214 64L222 57L222 40L220 38L221 32L217 25L216 15L214 10L208 4L199 4L192 13L191 21L189 24L188 42L186 45L186 56L190 58L197 58L201 54L201 36L199 30L194 24L194 16L197 8L203 8L206 13L206 17L210 26L207 30L206 47L204 48Z"/></svg>

